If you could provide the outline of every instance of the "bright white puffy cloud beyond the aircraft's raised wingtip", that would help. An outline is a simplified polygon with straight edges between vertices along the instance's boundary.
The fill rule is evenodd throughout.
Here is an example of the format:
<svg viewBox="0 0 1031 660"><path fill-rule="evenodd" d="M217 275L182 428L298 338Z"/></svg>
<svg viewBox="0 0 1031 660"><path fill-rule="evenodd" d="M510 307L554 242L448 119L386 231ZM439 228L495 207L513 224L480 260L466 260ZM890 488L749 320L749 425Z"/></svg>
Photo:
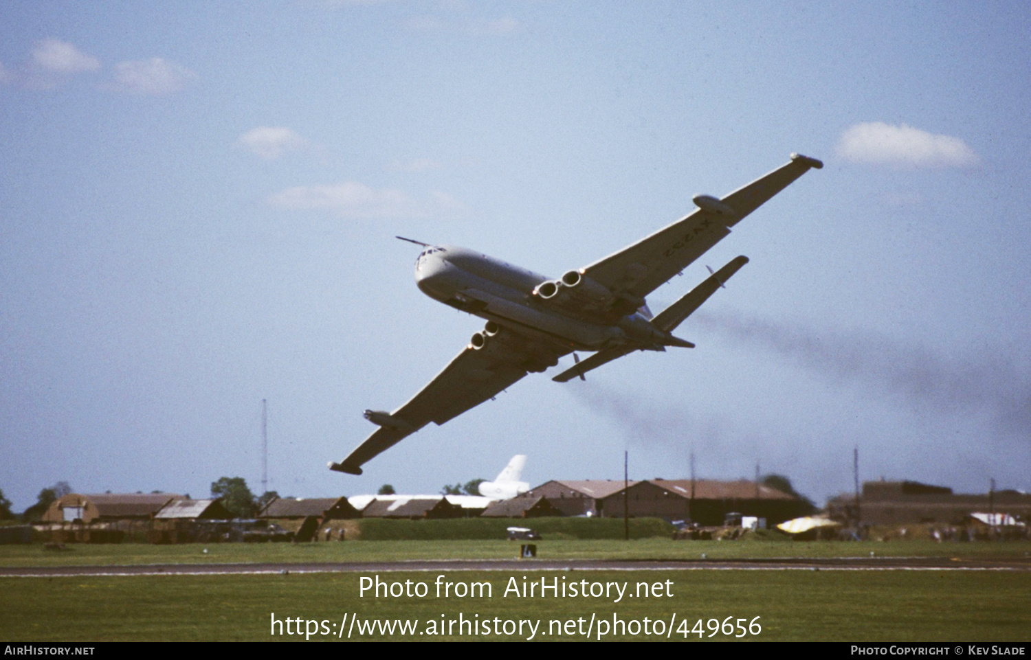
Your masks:
<svg viewBox="0 0 1031 660"><path fill-rule="evenodd" d="M857 124L838 140L838 154L855 163L913 168L971 167L979 159L966 142L910 126Z"/></svg>

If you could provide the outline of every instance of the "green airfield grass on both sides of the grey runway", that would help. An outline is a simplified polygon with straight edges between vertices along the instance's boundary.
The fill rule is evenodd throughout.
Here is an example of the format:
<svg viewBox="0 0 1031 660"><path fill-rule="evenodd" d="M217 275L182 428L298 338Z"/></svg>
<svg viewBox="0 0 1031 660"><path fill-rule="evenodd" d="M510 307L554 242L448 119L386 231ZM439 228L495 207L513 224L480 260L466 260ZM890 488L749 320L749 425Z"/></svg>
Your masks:
<svg viewBox="0 0 1031 660"><path fill-rule="evenodd" d="M117 565L154 563L337 562L405 559L510 559L519 544L505 541L363 541L309 544L213 544L153 546L69 545L66 551L41 545L0 546L2 566ZM1031 543L795 543L790 541L674 542L554 540L537 543L541 559L746 559L771 557L1024 557ZM204 553L204 550L207 553ZM530 562L532 564L532 562ZM436 597L433 582L488 582L491 597ZM385 572L386 582L428 584L425 597L359 595L359 581L371 574L273 576L161 576L0 579L0 639L18 641L100 640L301 640L304 635L270 634L272 613L280 620L310 620L311 640L338 640L340 622L357 627L373 620L418 621L414 634L395 631L359 634L352 639L519 639L530 636L459 635L448 624L465 620L540 622L536 639L587 640L576 630L592 616L610 627L613 615L637 629L603 639L659 639L650 625L661 620L670 639L733 640L723 632L709 637L707 625L731 617L747 626L760 617L758 634L741 639L792 640L1031 640L1031 574L1001 571L843 571L843 570L670 570L670 571L454 571ZM511 579L524 576L564 583L636 583L670 581L673 596L631 597L613 603L604 597L503 595ZM346 618L345 618L346 615ZM441 620L441 615L443 619ZM478 615L478 617L477 617ZM673 626L669 622L673 617ZM583 622L578 620L583 619ZM453 634L427 634L433 625L452 626ZM442 621L442 623L441 623ZM552 622L556 623L552 623ZM558 627L572 627L558 633ZM325 626L322 622L325 622ZM681 622L687 622L686 624ZM493 624L491 624L493 625ZM516 626L516 623L510 624ZM529 624L527 624L529 625ZM548 626L551 631L548 632ZM293 626L296 628L296 623ZM302 630L307 628L304 623ZM480 632L483 630L478 629ZM585 628L586 630L586 628ZM592 628L596 638L598 627ZM689 631L691 631L689 633ZM293 629L291 630L293 632ZM424 634L419 634L423 632ZM434 629L432 632L438 632ZM735 634L740 629L734 631ZM323 634L325 633L325 634ZM634 634L635 633L635 634ZM344 633L344 637L346 633Z"/></svg>

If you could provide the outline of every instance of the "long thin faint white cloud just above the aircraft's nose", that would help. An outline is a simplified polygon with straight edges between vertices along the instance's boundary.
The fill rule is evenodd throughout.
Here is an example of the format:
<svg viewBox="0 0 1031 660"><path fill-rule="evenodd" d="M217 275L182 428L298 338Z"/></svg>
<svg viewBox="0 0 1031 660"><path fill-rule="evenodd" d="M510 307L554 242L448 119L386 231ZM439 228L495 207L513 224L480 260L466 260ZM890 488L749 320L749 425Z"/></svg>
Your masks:
<svg viewBox="0 0 1031 660"><path fill-rule="evenodd" d="M460 215L466 208L451 196L432 192L415 199L396 188L373 188L358 181L336 185L299 185L268 198L286 209L325 209L348 219L440 217Z"/></svg>

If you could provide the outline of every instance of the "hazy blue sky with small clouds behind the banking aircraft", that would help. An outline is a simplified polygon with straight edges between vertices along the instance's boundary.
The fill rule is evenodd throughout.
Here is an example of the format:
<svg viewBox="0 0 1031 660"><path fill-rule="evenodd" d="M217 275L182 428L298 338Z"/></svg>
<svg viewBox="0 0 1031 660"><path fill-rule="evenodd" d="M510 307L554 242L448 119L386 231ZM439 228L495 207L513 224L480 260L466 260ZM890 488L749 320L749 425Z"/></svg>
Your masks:
<svg viewBox="0 0 1031 660"><path fill-rule="evenodd" d="M1023 3L0 5L0 488L326 496L491 478L1031 489ZM531 375L330 473L483 322L418 249L557 276L822 159L650 299L752 262L587 383ZM569 361L567 358L566 362ZM564 362L565 364L565 362ZM557 373L558 370L555 370Z"/></svg>

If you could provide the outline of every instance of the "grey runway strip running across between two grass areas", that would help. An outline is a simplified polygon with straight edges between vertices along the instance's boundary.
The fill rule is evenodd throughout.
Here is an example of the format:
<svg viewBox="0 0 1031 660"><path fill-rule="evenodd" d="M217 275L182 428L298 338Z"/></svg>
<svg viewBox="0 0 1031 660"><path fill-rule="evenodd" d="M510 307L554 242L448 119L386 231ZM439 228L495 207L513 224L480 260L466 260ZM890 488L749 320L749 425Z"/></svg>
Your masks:
<svg viewBox="0 0 1031 660"><path fill-rule="evenodd" d="M134 564L108 566L19 566L0 578L87 576L228 576L458 570L992 570L1031 571L1031 557L844 557L827 559L455 559L325 563Z"/></svg>

